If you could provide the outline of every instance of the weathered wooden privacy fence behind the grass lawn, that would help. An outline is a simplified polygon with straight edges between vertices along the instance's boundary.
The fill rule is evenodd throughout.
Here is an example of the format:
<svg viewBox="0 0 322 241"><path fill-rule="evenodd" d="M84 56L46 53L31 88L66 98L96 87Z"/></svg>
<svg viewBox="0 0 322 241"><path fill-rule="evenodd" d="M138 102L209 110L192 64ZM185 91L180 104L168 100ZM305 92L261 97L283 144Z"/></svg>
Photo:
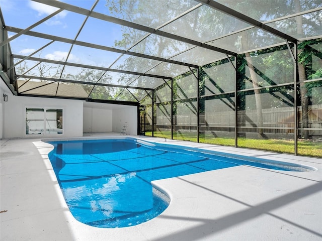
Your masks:
<svg viewBox="0 0 322 241"><path fill-rule="evenodd" d="M301 132L302 108L297 108L299 134ZM290 134L294 133L294 108L281 107L262 109L263 126L257 123L257 110L239 110L237 113L238 133L257 133L263 129L267 134ZM322 136L322 104L310 105L308 111L308 129L311 136ZM141 122L144 122L141 119ZM154 117L155 128L171 131L171 117L158 115ZM220 111L199 114L199 129L203 131L231 132L234 128L234 111ZM196 114L180 114L173 116L174 131L197 130ZM145 118L146 130L151 130L151 119Z"/></svg>

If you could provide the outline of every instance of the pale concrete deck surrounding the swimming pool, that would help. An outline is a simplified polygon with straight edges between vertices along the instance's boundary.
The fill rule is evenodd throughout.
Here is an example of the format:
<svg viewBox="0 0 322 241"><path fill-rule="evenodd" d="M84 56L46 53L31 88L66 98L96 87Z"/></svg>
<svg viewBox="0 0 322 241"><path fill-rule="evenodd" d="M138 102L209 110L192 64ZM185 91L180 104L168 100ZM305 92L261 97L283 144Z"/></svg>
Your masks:
<svg viewBox="0 0 322 241"><path fill-rule="evenodd" d="M322 240L322 159L137 138L298 163L317 170L237 166L153 181L171 198L161 215L136 226L97 228L76 221L69 212L47 157L52 150L49 144L41 139L1 140L1 240Z"/></svg>

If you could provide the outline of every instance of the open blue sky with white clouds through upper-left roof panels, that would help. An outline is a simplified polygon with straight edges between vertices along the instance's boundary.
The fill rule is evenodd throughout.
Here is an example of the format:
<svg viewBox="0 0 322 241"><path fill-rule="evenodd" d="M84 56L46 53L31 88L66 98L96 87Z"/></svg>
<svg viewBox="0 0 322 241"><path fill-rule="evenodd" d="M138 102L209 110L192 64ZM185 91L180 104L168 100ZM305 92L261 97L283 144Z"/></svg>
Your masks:
<svg viewBox="0 0 322 241"><path fill-rule="evenodd" d="M95 1L69 0L61 2L85 9L91 9ZM101 12L106 12L107 14L108 8L104 6L105 4L106 1L102 0L99 2L96 8L103 9ZM57 8L30 0L1 0L1 8L5 24L7 26L21 29L25 29L37 23L46 16L58 10ZM106 10L104 10L104 8ZM63 11L39 26L36 26L31 31L64 37L67 39L74 39L85 18L86 16L83 15ZM100 29L102 27L103 29L108 29L108 31L102 31L102 29ZM115 39L120 40L122 38L120 30L121 27L118 25L108 22L102 23L102 21L101 24L98 25L97 20L90 19L87 25L84 27L84 32L79 35L77 40L112 47L114 46ZM94 33L96 36L93 36ZM16 33L9 32L8 34L10 38ZM10 45L14 54L29 55L49 42L50 40L22 35L11 41ZM39 57L40 55L42 58L65 60L69 48L69 44L55 42L42 50L41 55L40 53L37 53L35 56ZM105 53L102 53L102 51L93 51L93 49L89 48L82 48L82 51L72 51L68 61L108 67L108 65L111 64L117 56L119 56L119 54L106 51L103 52Z"/></svg>

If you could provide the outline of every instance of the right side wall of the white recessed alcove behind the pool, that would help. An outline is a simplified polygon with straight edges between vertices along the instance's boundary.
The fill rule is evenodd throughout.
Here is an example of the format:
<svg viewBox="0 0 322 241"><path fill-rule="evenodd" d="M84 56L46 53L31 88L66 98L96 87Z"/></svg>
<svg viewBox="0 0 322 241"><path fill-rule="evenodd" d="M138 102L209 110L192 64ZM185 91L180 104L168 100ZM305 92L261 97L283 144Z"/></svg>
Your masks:
<svg viewBox="0 0 322 241"><path fill-rule="evenodd" d="M137 107L128 106L113 109L113 132L121 133L127 125L127 134L137 135Z"/></svg>

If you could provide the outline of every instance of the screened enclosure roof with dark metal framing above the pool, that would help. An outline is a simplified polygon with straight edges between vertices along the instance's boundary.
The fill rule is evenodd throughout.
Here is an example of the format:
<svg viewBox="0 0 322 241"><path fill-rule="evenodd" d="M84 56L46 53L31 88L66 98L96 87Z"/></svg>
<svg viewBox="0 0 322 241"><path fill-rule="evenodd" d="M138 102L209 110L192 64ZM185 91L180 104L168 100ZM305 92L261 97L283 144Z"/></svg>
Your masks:
<svg viewBox="0 0 322 241"><path fill-rule="evenodd" d="M14 94L43 96L48 82L77 85L88 99L136 102L200 66L322 36L320 0L8 3L0 76Z"/></svg>

